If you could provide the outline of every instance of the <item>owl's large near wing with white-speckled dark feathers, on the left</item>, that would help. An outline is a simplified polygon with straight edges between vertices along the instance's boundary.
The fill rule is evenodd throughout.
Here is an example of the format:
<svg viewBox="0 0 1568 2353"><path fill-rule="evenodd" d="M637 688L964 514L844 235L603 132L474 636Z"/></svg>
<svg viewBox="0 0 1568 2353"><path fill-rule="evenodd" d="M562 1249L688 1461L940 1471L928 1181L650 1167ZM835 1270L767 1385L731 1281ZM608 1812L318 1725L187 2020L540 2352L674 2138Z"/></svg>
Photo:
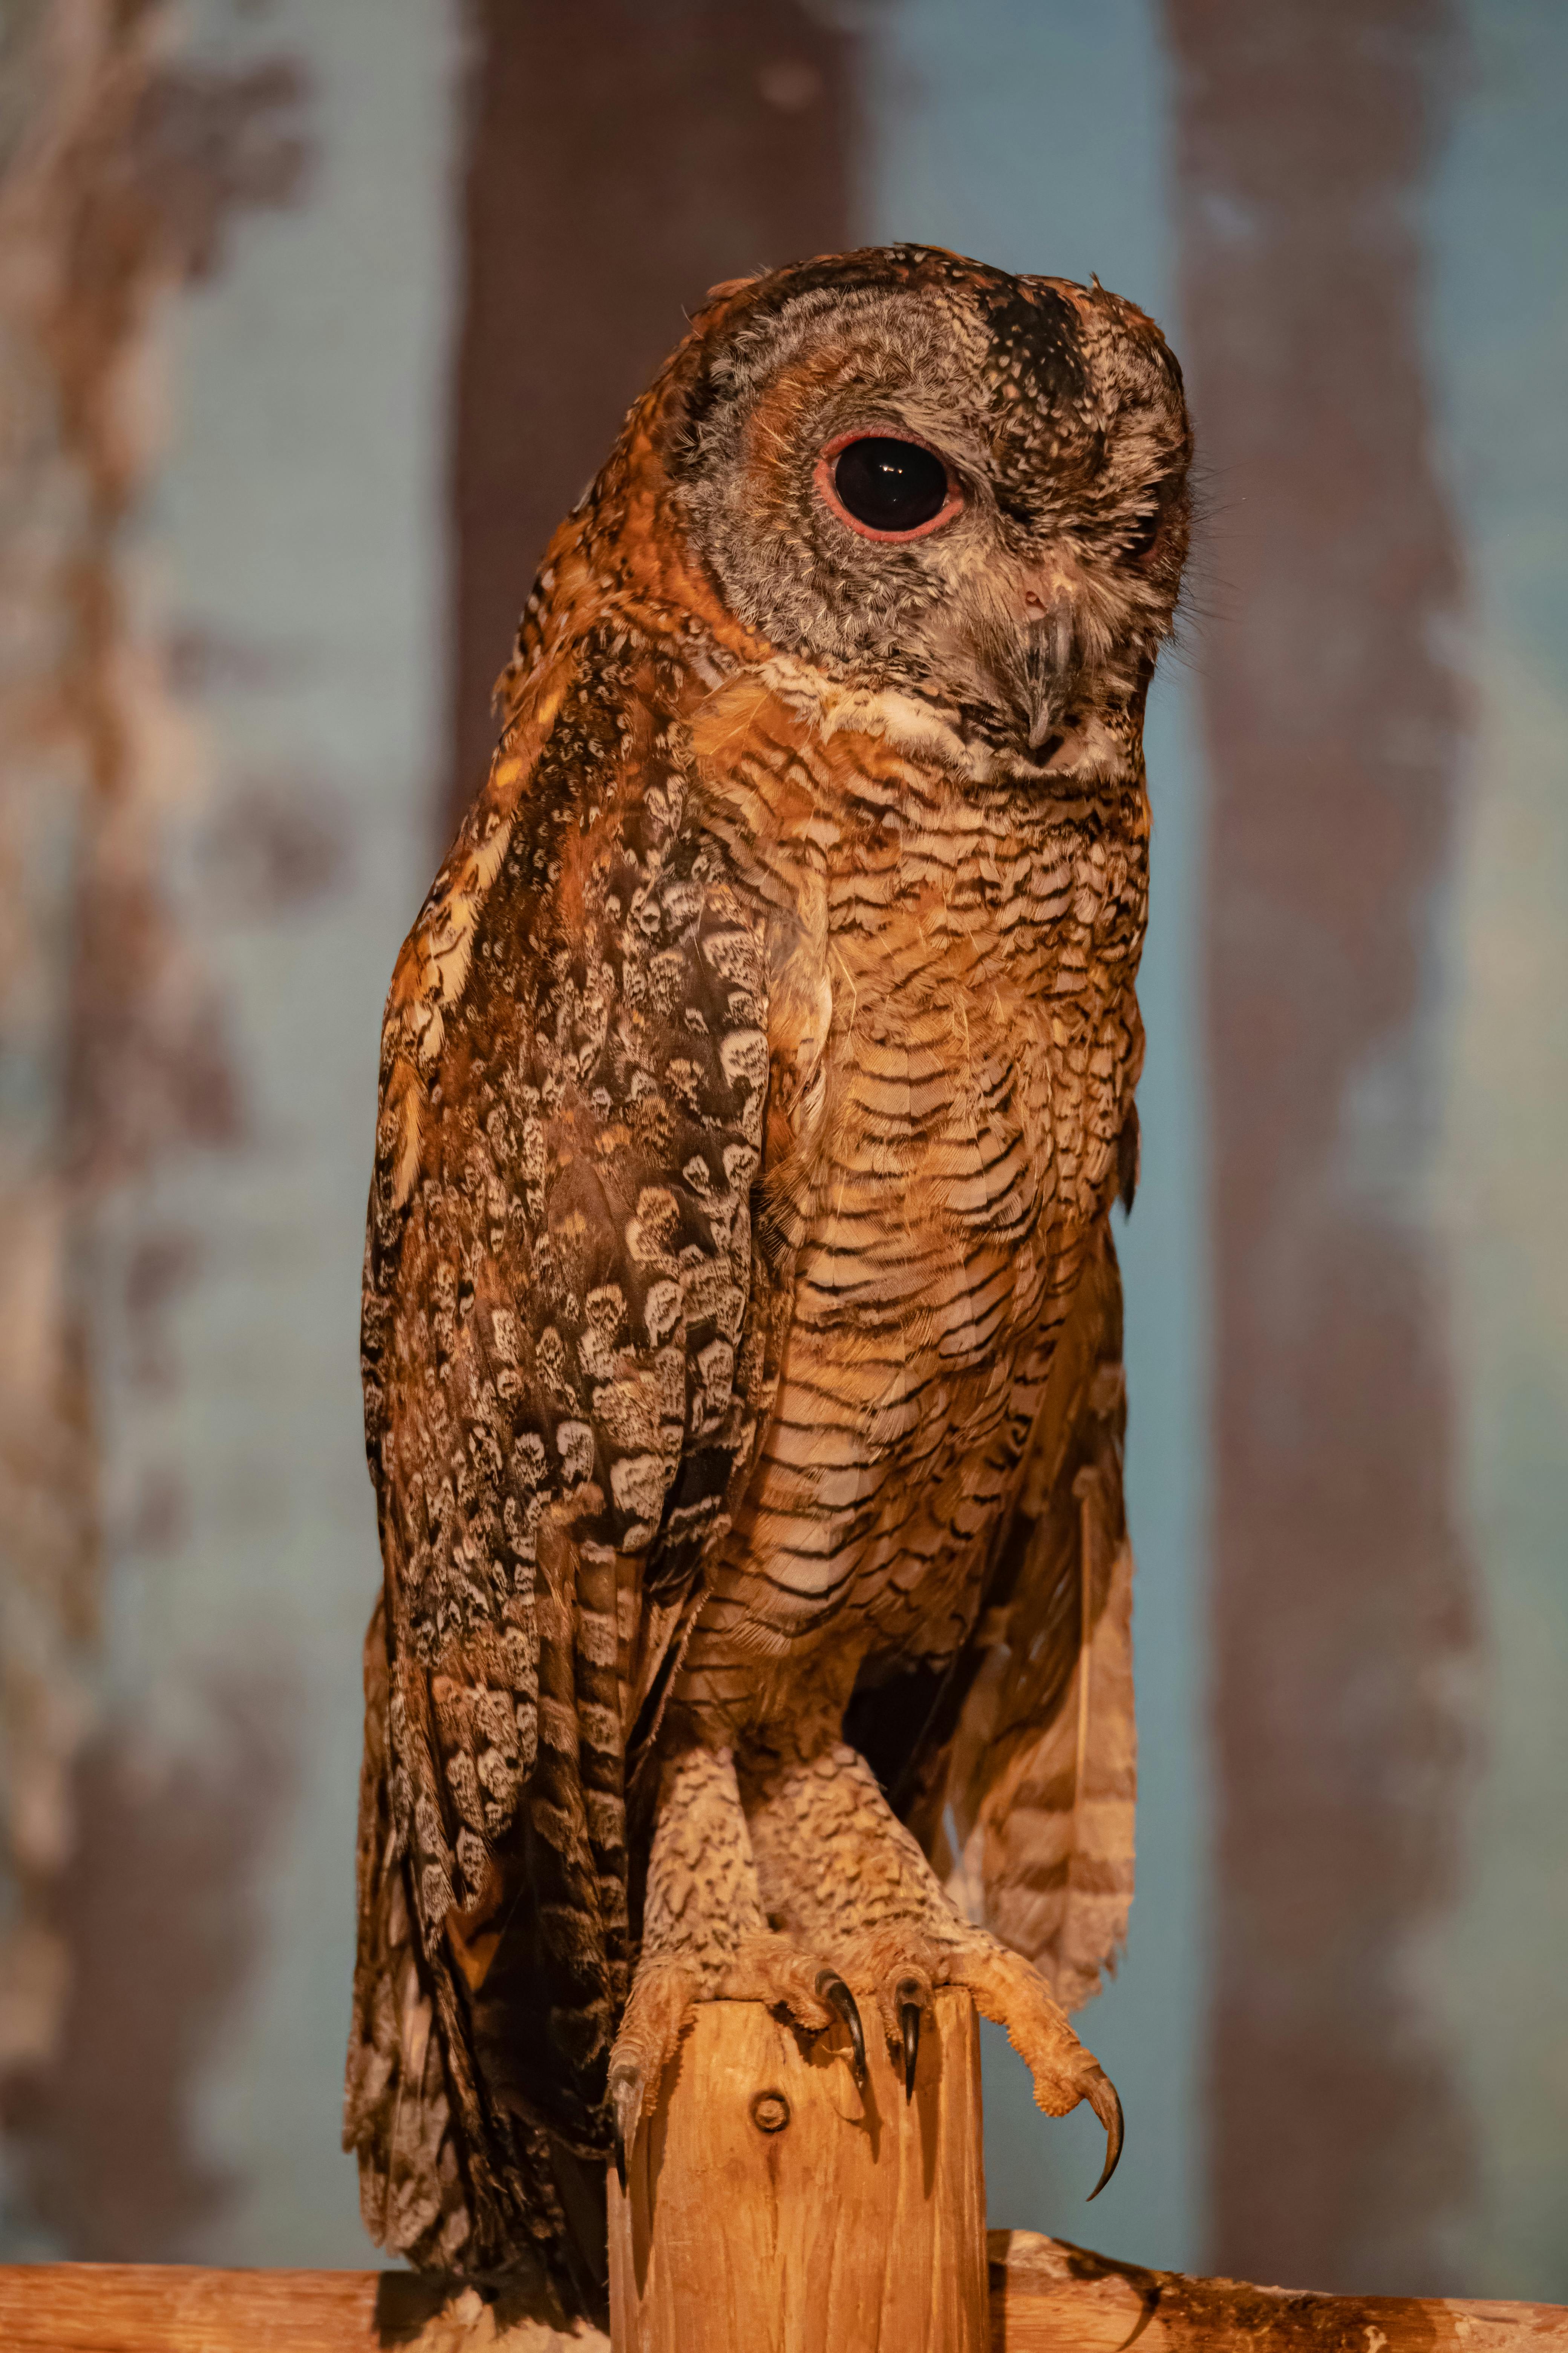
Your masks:
<svg viewBox="0 0 1568 2353"><path fill-rule="evenodd" d="M364 1289L348 2141L383 2245L515 2271L534 2242L578 2301L628 1809L771 1377L762 960L649 736L567 699L510 781L503 744L393 981Z"/></svg>

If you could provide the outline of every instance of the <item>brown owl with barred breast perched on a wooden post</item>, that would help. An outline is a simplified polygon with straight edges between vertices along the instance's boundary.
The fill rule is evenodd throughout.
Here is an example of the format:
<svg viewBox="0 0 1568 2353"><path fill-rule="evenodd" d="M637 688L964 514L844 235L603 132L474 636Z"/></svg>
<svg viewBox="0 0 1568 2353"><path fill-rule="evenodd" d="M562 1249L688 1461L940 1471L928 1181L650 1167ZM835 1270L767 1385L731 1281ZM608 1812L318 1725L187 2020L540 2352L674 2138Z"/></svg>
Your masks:
<svg viewBox="0 0 1568 2353"><path fill-rule="evenodd" d="M1117 2160L1065 2009L1131 1899L1110 1209L1190 449L1098 280L825 256L712 289L545 553L364 1261L346 2146L414 2264L602 2308L715 1998L912 2085L969 1988Z"/></svg>

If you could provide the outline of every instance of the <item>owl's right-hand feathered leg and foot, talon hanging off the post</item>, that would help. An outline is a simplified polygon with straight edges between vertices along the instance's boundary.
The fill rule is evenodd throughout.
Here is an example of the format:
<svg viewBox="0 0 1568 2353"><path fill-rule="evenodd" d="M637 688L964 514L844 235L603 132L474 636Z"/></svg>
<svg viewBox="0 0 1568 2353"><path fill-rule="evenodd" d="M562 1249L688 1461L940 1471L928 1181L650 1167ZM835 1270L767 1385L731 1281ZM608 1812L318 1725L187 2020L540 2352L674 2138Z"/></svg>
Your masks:
<svg viewBox="0 0 1568 2353"><path fill-rule="evenodd" d="M849 1986L875 1998L905 2087L931 1988L964 1986L980 2017L1006 2026L1046 2115L1086 2099L1105 2125L1105 2169L1088 2193L1098 2198L1121 2155L1110 2078L1039 1969L964 1920L863 1758L837 1744L809 1762L773 1762L745 1774L743 1795L771 1920L792 1944L832 1953Z"/></svg>

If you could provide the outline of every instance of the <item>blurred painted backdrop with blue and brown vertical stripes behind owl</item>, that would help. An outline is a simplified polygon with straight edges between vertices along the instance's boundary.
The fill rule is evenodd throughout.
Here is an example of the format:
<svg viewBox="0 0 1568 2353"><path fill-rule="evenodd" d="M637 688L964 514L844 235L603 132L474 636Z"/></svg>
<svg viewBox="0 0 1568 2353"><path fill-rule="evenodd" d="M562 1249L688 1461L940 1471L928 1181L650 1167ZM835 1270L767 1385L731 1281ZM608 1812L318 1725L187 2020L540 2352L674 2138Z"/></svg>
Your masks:
<svg viewBox="0 0 1568 2353"><path fill-rule="evenodd" d="M5 0L0 2254L371 2261L339 2153L381 998L717 280L1145 304L1140 1894L992 2221L1568 2299L1568 9Z"/></svg>

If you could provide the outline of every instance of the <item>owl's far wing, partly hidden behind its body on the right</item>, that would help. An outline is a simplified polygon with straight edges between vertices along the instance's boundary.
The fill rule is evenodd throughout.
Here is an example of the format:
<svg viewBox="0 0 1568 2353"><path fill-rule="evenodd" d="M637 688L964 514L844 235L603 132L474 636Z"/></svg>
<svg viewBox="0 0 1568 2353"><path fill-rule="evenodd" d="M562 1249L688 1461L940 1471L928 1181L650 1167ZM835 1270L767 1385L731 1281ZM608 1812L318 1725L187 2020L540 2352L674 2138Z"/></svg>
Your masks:
<svg viewBox="0 0 1568 2353"><path fill-rule="evenodd" d="M1124 1428L1121 1278L1105 1228L1056 1348L976 1631L889 1777L966 1908L1041 1969L1065 2009L1114 1969L1133 1901Z"/></svg>

